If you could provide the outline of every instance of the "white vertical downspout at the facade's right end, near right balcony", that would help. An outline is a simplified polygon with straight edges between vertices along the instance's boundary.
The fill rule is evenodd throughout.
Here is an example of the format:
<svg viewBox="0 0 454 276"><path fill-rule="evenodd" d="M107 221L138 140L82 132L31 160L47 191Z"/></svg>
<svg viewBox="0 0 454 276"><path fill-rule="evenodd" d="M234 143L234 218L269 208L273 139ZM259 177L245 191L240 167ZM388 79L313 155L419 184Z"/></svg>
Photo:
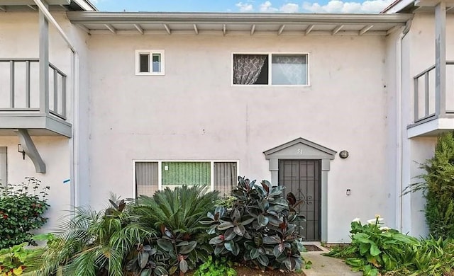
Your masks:
<svg viewBox="0 0 454 276"><path fill-rule="evenodd" d="M404 74L402 72L402 64L403 64L403 47L402 41L404 40L407 33L411 28L411 19L406 21L406 25L402 30L402 33L399 34L399 38L397 39L397 218L396 218L396 226L399 231L402 232L402 209L403 209L403 200L402 200L402 192L404 189L403 185L403 174L402 174L402 156L404 155L402 144L404 142L404 137L402 135L402 84L404 82Z"/></svg>

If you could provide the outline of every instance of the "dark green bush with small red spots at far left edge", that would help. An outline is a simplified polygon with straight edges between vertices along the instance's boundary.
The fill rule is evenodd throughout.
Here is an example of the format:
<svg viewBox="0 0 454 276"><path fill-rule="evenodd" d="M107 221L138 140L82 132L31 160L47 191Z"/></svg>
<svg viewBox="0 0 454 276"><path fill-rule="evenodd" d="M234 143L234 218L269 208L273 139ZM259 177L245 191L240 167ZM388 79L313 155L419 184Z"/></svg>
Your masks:
<svg viewBox="0 0 454 276"><path fill-rule="evenodd" d="M49 207L49 186L41 185L36 178L6 187L0 185L0 248L33 243L30 232L48 221L43 214Z"/></svg>

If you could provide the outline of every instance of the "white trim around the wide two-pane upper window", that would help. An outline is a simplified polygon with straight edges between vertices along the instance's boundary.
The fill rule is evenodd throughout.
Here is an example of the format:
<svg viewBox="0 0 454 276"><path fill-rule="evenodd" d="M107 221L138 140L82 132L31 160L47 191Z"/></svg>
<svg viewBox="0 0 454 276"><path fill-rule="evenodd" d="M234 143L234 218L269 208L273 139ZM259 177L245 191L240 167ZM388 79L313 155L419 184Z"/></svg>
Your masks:
<svg viewBox="0 0 454 276"><path fill-rule="evenodd" d="M268 84L233 84L233 54L267 54L268 55ZM271 66L272 66L272 54L306 54L306 64L307 64L307 84L271 84ZM232 52L231 53L231 86L258 86L258 87L269 87L269 86L279 86L279 87L309 87L311 86L311 76L310 71L310 53L309 52Z"/></svg>

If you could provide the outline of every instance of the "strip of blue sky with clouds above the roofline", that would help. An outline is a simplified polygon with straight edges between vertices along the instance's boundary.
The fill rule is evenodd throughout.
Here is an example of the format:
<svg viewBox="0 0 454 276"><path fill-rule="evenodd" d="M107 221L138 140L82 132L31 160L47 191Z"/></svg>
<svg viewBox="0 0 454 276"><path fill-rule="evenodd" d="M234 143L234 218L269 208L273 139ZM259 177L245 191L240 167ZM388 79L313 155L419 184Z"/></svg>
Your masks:
<svg viewBox="0 0 454 276"><path fill-rule="evenodd" d="M99 11L379 13L393 0L90 0Z"/></svg>

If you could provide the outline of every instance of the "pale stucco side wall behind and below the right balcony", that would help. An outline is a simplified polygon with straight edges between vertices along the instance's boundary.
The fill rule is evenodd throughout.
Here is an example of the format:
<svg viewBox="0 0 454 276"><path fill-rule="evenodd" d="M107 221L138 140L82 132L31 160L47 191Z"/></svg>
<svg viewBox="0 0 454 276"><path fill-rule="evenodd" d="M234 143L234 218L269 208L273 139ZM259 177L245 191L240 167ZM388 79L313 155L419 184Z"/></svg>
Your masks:
<svg viewBox="0 0 454 276"><path fill-rule="evenodd" d="M454 60L454 16L447 15L446 21L446 59ZM403 113L402 118L404 127L414 123L414 83L413 77L435 64L435 20L433 13L416 13L411 24L411 29L404 38L404 63L403 63ZM454 99L454 86L452 77L453 67L447 67L447 107L449 102ZM433 89L434 91L434 89ZM422 95L420 113L423 112ZM431 95L433 100L433 95ZM431 102L433 103L433 101ZM433 107L430 109L433 112ZM419 176L423 171L419 164L433 156L436 137L421 137L406 139L407 134L404 129L404 156L403 156L403 184L404 187L409 183L419 181ZM413 236L426 236L428 229L425 218L421 210L424 209L425 200L420 193L412 193L403 197L404 207L402 213L404 232L409 232Z"/></svg>

